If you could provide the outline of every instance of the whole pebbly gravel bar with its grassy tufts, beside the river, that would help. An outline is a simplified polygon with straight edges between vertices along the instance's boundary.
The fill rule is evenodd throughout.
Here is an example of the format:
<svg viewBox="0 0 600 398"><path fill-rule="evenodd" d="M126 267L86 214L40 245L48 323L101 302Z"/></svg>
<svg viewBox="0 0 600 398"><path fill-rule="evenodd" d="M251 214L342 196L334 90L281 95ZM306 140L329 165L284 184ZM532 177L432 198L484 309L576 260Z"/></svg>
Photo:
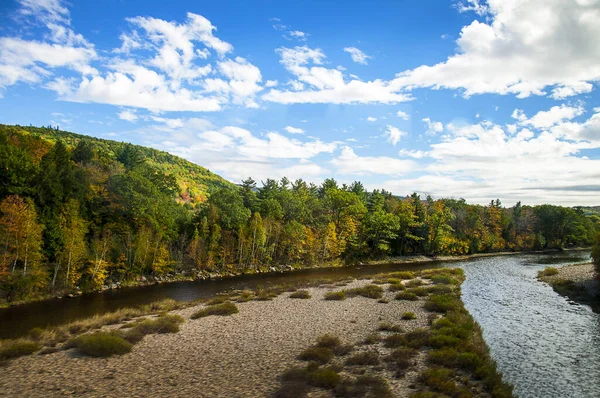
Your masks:
<svg viewBox="0 0 600 398"><path fill-rule="evenodd" d="M463 280L460 269L398 271L123 309L2 341L0 388L15 396L512 397L460 300ZM344 299L326 299L335 293Z"/></svg>

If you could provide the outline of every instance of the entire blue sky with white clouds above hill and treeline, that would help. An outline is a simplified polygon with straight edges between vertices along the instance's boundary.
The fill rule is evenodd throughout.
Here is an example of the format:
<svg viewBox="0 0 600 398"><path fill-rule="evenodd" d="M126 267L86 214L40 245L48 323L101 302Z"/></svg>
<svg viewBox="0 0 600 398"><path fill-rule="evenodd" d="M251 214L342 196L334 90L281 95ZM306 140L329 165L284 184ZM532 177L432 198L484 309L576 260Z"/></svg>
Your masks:
<svg viewBox="0 0 600 398"><path fill-rule="evenodd" d="M0 123L236 183L599 205L598 21L600 0L0 0Z"/></svg>

